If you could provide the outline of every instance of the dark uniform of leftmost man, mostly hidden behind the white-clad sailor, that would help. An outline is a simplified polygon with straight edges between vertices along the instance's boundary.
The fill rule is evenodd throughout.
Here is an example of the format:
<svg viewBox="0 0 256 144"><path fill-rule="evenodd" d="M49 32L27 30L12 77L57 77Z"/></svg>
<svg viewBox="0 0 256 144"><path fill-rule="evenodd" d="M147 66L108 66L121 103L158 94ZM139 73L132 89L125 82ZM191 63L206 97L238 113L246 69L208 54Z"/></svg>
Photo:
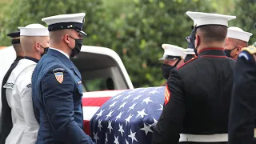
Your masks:
<svg viewBox="0 0 256 144"><path fill-rule="evenodd" d="M6 88L3 88L3 86L6 84L8 78L10 77L11 72L14 70L14 68L18 65L19 60L21 60L23 57L18 56L14 63L11 64L9 70L7 71L5 77L2 79L2 116L1 116L1 134L0 134L0 144L4 144L6 142L6 138L8 134L10 134L10 130L13 127L13 122L11 118L11 110L10 106L7 103L6 99Z"/></svg>

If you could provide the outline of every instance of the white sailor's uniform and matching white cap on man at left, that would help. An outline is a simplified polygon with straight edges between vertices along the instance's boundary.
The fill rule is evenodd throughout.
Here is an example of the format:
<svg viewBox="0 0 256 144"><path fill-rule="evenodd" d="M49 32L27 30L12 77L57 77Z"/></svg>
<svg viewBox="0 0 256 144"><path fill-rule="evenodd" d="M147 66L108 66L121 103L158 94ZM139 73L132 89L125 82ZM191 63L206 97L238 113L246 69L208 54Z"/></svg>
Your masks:
<svg viewBox="0 0 256 144"><path fill-rule="evenodd" d="M49 37L47 28L40 24L18 28L21 36ZM34 117L31 76L37 62L38 59L25 56L18 62L3 86L6 89L6 101L10 106L13 122L6 144L34 144L36 141L39 125Z"/></svg>

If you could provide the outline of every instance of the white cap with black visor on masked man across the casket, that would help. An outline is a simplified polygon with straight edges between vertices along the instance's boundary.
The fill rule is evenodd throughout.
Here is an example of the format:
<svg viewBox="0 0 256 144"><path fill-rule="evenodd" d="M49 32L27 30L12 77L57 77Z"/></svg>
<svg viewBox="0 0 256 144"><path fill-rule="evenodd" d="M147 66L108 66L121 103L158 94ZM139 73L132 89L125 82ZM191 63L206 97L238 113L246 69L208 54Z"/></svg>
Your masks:
<svg viewBox="0 0 256 144"><path fill-rule="evenodd" d="M159 60L175 60L177 58L184 58L184 50L182 47L174 46L170 44L162 44L163 50L165 50L162 58Z"/></svg>

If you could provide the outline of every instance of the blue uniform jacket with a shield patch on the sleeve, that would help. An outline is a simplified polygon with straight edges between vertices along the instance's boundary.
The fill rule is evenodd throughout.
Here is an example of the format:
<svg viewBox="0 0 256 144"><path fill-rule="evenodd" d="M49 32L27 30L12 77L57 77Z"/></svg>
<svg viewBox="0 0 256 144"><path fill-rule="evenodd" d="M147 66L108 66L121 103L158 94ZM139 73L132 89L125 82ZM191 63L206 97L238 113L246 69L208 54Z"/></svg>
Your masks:
<svg viewBox="0 0 256 144"><path fill-rule="evenodd" d="M49 49L32 75L32 99L38 118L37 144L90 144L82 130L82 78L64 54Z"/></svg>

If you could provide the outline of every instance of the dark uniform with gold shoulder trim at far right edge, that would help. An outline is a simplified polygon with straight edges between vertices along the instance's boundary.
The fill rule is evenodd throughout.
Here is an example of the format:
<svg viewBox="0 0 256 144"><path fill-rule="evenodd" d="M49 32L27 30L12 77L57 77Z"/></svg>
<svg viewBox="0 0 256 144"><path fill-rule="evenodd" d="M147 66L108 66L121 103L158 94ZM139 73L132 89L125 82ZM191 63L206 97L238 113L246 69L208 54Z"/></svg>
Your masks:
<svg viewBox="0 0 256 144"><path fill-rule="evenodd" d="M256 45L255 45L256 46ZM234 87L230 104L229 144L256 143L256 47L244 48L234 69Z"/></svg>

